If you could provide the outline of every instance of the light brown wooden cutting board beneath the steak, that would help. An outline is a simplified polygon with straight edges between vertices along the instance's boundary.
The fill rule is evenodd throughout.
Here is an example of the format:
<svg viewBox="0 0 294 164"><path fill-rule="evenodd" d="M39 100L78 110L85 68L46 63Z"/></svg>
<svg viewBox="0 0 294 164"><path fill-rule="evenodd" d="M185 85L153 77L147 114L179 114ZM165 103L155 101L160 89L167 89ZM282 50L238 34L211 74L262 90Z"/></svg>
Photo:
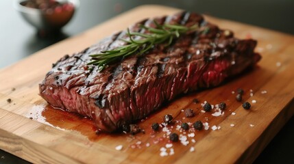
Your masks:
<svg viewBox="0 0 294 164"><path fill-rule="evenodd" d="M228 20L206 16L221 28L232 29L238 38L258 40L256 51L262 54L258 67L220 87L177 98L166 107L139 121L145 134L95 135L93 123L79 115L46 107L38 96L38 83L51 64L65 54L81 51L114 31L125 29L138 20L179 10L144 5L98 25L79 36L69 38L0 70L0 148L33 163L250 163L278 133L294 113L294 37ZM236 102L238 87L245 90L243 101L252 102L246 111ZM12 90L15 88L15 90ZM250 91L252 90L252 91ZM265 93L266 92L266 93ZM252 94L250 96L250 94ZM11 98L12 102L8 102ZM193 98L199 104L192 103ZM201 102L221 101L228 107L215 117L201 113ZM184 118L182 109L197 114ZM177 122L208 122L208 131L184 132L188 145L173 143L173 155L160 156L168 141L166 132L152 133L153 122L162 122L171 113ZM235 114L234 114L235 113ZM32 118L29 119L29 118ZM212 131L212 126L220 127ZM233 126L234 125L234 126ZM171 129L171 126L169 126ZM193 137L193 133L195 136ZM195 140L195 143L193 142ZM115 148L122 145L122 150ZM149 147L148 147L149 145ZM191 148L195 148L191 152ZM192 149L193 149L192 148ZM171 148L167 148L167 153Z"/></svg>

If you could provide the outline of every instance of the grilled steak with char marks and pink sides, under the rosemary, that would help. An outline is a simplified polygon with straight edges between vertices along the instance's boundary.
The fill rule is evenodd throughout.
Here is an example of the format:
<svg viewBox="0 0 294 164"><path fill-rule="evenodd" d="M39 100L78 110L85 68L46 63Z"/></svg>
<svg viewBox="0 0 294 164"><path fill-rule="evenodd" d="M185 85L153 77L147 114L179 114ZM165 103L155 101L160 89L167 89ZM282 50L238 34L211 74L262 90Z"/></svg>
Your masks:
<svg viewBox="0 0 294 164"><path fill-rule="evenodd" d="M175 96L213 87L228 77L255 66L260 55L254 53L256 40L238 40L232 31L219 29L191 12L155 18L160 23L199 24L197 32L187 33L170 46L156 45L144 55L132 55L111 64L101 72L87 66L89 55L126 44L126 31L90 46L53 64L40 83L40 96L53 107L92 118L100 131L116 131L144 118ZM156 27L146 19L130 27L147 33L140 24Z"/></svg>

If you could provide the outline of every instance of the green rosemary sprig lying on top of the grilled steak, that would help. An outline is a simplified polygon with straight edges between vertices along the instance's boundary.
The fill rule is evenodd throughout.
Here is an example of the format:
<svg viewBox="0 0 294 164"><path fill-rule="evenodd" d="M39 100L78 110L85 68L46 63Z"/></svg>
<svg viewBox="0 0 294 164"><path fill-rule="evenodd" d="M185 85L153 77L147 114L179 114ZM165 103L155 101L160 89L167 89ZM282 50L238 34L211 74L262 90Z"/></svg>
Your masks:
<svg viewBox="0 0 294 164"><path fill-rule="evenodd" d="M169 46L173 42L174 38L179 38L180 35L188 32L193 32L198 29L198 25L193 25L192 27L185 27L183 25L159 25L156 21L156 28L146 27L145 25L140 25L140 27L149 31L149 33L138 33L130 32L127 29L127 35L130 40L123 40L127 44L119 46L116 49L109 51L101 51L99 54L90 55L92 58L88 65L94 65L99 67L99 71L103 70L112 64L114 61L121 60L130 55L142 55L149 51L154 45L167 43L165 46ZM140 36L142 39L134 40L134 37Z"/></svg>

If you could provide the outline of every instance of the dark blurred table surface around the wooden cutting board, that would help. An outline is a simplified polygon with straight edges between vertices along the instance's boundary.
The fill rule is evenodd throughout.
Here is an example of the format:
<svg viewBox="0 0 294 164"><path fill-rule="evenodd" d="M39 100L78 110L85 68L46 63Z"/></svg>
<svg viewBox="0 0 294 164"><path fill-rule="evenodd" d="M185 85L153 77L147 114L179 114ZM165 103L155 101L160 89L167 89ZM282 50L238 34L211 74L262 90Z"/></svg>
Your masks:
<svg viewBox="0 0 294 164"><path fill-rule="evenodd" d="M294 35L293 0L84 0L62 33L40 38L14 10L13 1L0 1L0 68L9 66L60 40L75 36L138 5L160 4L209 14ZM294 45L293 45L294 46ZM294 54L293 54L294 55ZM294 163L294 117L281 129L254 163ZM1 150L0 163L28 163Z"/></svg>

